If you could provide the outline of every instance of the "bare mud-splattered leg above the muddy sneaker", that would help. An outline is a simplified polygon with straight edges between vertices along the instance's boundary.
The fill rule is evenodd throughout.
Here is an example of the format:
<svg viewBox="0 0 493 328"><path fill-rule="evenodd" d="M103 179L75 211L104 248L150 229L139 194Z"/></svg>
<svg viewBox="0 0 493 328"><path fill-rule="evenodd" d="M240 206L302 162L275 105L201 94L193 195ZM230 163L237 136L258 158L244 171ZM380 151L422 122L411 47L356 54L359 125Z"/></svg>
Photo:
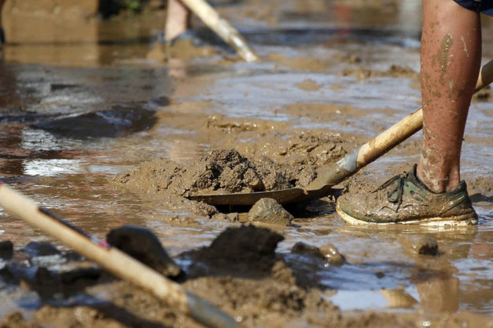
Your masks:
<svg viewBox="0 0 493 328"><path fill-rule="evenodd" d="M460 181L460 153L481 64L478 12L453 0L423 1L421 93L423 149L418 177L434 192Z"/></svg>

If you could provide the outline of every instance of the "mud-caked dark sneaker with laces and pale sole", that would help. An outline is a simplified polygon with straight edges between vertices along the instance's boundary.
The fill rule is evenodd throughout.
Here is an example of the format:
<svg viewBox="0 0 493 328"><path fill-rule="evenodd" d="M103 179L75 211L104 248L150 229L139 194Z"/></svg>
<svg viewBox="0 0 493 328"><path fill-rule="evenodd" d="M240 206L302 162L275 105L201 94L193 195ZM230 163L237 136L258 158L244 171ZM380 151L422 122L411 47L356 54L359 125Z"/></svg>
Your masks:
<svg viewBox="0 0 493 328"><path fill-rule="evenodd" d="M337 199L337 214L351 224L419 223L462 226L478 223L464 181L446 193L434 193L416 178L416 166L396 175L372 193Z"/></svg>

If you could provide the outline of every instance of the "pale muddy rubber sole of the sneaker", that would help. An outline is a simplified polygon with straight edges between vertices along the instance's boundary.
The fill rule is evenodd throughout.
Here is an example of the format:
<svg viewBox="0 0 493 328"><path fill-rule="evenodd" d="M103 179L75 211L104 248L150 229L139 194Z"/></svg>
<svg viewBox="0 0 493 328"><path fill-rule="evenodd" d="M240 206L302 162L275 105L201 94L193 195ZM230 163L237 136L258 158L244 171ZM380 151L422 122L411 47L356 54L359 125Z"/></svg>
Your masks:
<svg viewBox="0 0 493 328"><path fill-rule="evenodd" d="M419 220L409 220L409 221L400 221L400 222L368 222L363 220L358 220L349 214L343 212L339 208L339 203L337 203L335 210L340 218L344 221L352 224L353 226L362 226L362 225L370 225L377 224L379 226L389 226L390 224L420 224L422 226L474 226L478 224L478 218L476 216L472 216L470 214L451 216L451 217L430 217Z"/></svg>

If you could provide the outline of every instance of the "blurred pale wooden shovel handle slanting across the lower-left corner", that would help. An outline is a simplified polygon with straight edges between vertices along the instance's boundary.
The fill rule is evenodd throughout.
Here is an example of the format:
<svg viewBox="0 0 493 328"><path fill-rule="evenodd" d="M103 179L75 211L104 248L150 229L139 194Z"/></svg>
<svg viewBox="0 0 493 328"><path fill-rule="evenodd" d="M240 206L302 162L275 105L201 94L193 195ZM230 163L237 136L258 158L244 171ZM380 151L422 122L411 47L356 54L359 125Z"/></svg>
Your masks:
<svg viewBox="0 0 493 328"><path fill-rule="evenodd" d="M190 315L208 327L239 327L236 321L207 301L186 292L177 283L128 256L106 241L98 240L71 226L29 198L0 182L0 206L6 212L39 228L44 233L98 263L113 275L153 293L174 309Z"/></svg>

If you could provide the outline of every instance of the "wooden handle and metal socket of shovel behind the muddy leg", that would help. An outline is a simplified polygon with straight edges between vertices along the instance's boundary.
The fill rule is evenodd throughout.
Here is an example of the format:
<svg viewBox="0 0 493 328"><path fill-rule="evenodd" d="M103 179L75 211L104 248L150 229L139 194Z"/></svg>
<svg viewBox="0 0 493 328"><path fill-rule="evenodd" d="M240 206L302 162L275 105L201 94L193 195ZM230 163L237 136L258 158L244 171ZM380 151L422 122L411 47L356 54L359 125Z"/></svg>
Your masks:
<svg viewBox="0 0 493 328"><path fill-rule="evenodd" d="M493 82L493 60L488 61L481 68L475 93L491 82ZM311 191L337 185L422 128L423 109L420 108L336 163L321 167L317 172L317 178L305 189Z"/></svg>

